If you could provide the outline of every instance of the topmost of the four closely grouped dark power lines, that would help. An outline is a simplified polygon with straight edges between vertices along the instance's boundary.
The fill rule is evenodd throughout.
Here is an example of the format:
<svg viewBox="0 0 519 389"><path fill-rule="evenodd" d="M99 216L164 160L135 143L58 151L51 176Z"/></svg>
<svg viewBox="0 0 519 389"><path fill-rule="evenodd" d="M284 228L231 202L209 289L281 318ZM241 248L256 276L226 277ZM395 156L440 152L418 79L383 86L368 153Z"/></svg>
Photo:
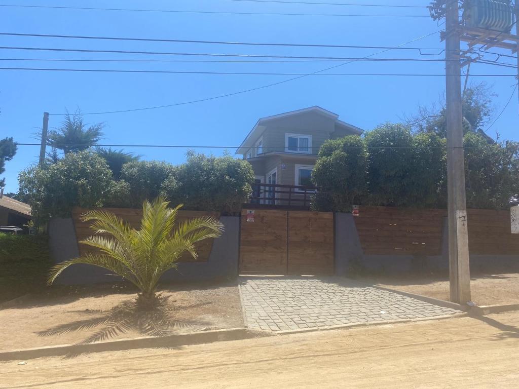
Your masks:
<svg viewBox="0 0 519 389"><path fill-rule="evenodd" d="M351 46L351 45L322 45L322 44L296 44L296 43L263 43L263 42L235 42L223 40L191 40L191 39L166 39L166 38L124 38L113 36L86 36L86 35L53 35L53 34L23 34L5 33L0 35L8 36L32 36L40 38L64 38L64 39L101 39L101 40L133 40L145 42L170 42L170 43L199 43L211 45L244 45L244 46L285 46L285 47L326 47L326 48L347 48L347 49L400 49L400 50L444 50L439 48L413 48L413 47L387 47L387 46ZM439 55L439 54L434 54Z"/></svg>

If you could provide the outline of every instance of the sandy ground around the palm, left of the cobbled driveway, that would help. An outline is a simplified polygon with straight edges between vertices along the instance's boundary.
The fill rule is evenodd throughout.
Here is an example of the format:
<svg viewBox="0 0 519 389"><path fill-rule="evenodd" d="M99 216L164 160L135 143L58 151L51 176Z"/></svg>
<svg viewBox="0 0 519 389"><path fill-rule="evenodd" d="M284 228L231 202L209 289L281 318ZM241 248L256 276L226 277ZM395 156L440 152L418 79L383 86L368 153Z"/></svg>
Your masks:
<svg viewBox="0 0 519 389"><path fill-rule="evenodd" d="M243 327L236 283L175 286L174 289L163 289L161 293L167 297L168 307L165 334L149 330L150 322L163 318L160 315L135 316L126 311L122 314L117 311L114 315L111 311L114 307L134 301L135 291L129 287L62 287L48 291L46 295L31 296L12 308L0 310L0 350L79 343L98 332L107 332L104 340L110 340ZM122 324L121 317L124 319Z"/></svg>

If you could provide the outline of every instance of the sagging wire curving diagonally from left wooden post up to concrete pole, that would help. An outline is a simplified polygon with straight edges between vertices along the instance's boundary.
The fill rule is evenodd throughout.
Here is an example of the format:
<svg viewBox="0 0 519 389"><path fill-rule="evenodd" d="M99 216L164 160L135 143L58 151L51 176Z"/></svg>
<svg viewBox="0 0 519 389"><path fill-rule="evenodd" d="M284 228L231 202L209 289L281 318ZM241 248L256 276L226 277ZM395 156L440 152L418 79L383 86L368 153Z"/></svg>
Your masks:
<svg viewBox="0 0 519 389"><path fill-rule="evenodd" d="M443 30L440 30L440 31L443 31ZM419 36L418 38L414 38L414 39L408 40L407 42L404 42L404 43L398 45L397 47L400 48L402 46L405 46L405 45L408 45L410 43L413 43L413 42L415 42L417 40L427 38L427 37L429 37L431 35L434 35L434 34L438 34L440 31L434 31L434 32L429 33L429 34ZM389 51L389 50L391 50L391 49L377 51L375 53L366 55L365 58L370 58L370 57L373 57L374 55L381 54L381 53ZM312 74L317 74L317 73L325 72L327 70L331 70L333 68L336 68L336 67L339 67L339 66L343 66L343 65L346 65L346 64L351 63L351 62L354 62L354 61L349 61L349 62L345 62L345 63L339 64L339 65L334 65L334 66L326 67L326 68L318 70L316 72L308 73L308 74L306 74L304 76L291 77L291 78L288 78L286 80L277 81L277 82L271 82L270 84L265 84L265 85L262 85L262 86L259 86L259 87L254 87L254 88L249 88L249 89L242 89L242 90L239 90L237 92L220 94L220 95L216 95L216 96L211 96L209 98L190 100L190 101L183 101L183 102L180 102L180 103L173 103L173 104L156 105L156 106L152 106L152 107L142 107L142 108L132 108L132 109L119 109L119 110L112 110L112 111L105 111L105 112L92 112L92 113L85 113L84 115L106 115L106 114L120 114L120 113L127 113L127 112L139 112L139 111L143 111L143 110L170 108L170 107L177 107L177 106L181 106L181 105L195 104L195 103L201 103L201 102L206 102L206 101L211 101L211 100L223 99L223 98L230 97L230 96L236 96L238 94L254 92L254 91L257 91L257 90L266 89L266 88L274 87L274 86L277 86L277 85L285 84L286 82L295 81L295 80L298 80L298 79L301 79L301 78L304 78L304 77L308 77L308 76L310 76ZM49 114L49 115L52 115L52 116L65 116L66 114Z"/></svg>

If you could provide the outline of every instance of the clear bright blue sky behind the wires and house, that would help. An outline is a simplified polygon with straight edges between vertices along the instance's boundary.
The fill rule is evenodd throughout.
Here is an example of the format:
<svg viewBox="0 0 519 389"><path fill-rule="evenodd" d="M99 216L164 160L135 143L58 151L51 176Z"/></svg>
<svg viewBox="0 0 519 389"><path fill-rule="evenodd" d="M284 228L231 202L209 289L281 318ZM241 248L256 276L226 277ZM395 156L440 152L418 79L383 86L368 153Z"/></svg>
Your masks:
<svg viewBox="0 0 519 389"><path fill-rule="evenodd" d="M319 1L319 0L318 0ZM368 3L374 3L377 0ZM323 1L324 2L324 1ZM339 1L337 1L338 3ZM344 1L346 2L346 1ZM361 1L359 1L361 2ZM393 4L427 5L424 0L394 0ZM346 7L331 5L201 1L62 1L17 0L0 4L66 5L81 7L147 8L234 12L356 13L428 15L413 8ZM378 4L384 2L378 1ZM430 18L324 17L272 15L217 15L201 13L119 12L0 7L1 32L90 35L189 40L257 41L267 43L397 46L441 30ZM101 50L169 51L190 53L272 54L364 57L379 50L304 47L247 47L184 43L150 43L2 36L0 46L80 48ZM443 48L439 33L408 47ZM500 51L493 49L491 51ZM434 52L434 51L430 51ZM500 51L509 54L506 51ZM407 50L392 50L379 58L419 58ZM85 63L22 62L37 59L201 59L200 57L142 54L41 52L0 49L0 67L111 68L135 70L311 73L337 62L300 63ZM422 57L430 58L430 57ZM442 58L442 57L433 57ZM215 59L215 58L212 58ZM509 60L513 61L513 60ZM513 69L476 64L471 73L512 74ZM444 72L441 62L357 62L340 66L339 73ZM280 75L124 74L0 70L0 138L35 142L44 111L63 113L132 109L181 103L260 87L290 78ZM487 81L497 94L496 114L507 103L515 79L471 77ZM445 89L443 77L309 76L253 92L212 101L132 113L87 116L87 122L105 122L104 143L238 146L258 118L319 105L340 119L365 130L386 121L400 121L419 104L438 102ZM517 96L489 131L501 139L519 140ZM51 116L49 128L62 117ZM16 191L18 173L37 161L38 147L20 146L7 162L6 191ZM181 163L185 149L130 149L144 159ZM221 148L200 150L219 155ZM234 153L234 149L230 149Z"/></svg>

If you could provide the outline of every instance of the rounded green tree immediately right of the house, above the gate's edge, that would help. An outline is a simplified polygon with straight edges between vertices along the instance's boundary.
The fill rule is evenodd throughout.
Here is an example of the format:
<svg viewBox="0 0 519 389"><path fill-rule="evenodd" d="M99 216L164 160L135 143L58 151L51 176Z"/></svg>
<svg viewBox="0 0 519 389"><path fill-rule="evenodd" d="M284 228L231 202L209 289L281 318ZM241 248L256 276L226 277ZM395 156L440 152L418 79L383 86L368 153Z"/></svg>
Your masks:
<svg viewBox="0 0 519 389"><path fill-rule="evenodd" d="M366 195L367 151L362 138L348 135L324 142L313 168L312 181L320 188L312 207L350 211Z"/></svg>

